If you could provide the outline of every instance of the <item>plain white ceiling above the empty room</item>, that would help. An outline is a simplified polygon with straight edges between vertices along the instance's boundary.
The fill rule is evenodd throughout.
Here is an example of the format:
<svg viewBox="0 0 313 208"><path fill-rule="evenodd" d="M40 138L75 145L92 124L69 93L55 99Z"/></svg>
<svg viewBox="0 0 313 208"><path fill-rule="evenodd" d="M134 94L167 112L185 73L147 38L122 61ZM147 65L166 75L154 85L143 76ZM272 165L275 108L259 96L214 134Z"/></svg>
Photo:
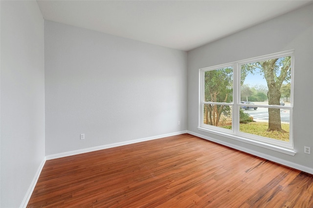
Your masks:
<svg viewBox="0 0 313 208"><path fill-rule="evenodd" d="M189 51L312 0L37 0L44 19Z"/></svg>

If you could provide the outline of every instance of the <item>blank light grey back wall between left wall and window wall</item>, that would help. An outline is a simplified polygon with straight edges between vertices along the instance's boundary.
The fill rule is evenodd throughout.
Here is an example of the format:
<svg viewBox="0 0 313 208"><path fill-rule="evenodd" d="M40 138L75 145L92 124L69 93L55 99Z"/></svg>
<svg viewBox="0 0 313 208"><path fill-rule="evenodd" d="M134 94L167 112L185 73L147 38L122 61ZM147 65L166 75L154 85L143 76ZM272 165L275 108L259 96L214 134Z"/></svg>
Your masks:
<svg viewBox="0 0 313 208"><path fill-rule="evenodd" d="M45 21L46 155L185 131L186 61L179 50Z"/></svg>

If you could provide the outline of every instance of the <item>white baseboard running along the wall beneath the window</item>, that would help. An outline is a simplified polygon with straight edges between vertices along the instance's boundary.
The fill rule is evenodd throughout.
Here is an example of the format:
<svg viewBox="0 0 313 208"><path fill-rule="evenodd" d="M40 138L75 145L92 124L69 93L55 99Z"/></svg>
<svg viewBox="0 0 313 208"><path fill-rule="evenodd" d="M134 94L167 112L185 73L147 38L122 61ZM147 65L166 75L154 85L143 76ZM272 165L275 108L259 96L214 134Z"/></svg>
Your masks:
<svg viewBox="0 0 313 208"><path fill-rule="evenodd" d="M293 163L293 162L290 162L290 161L287 161L287 160L283 160L283 159L280 159L280 158L277 158L277 157L273 157L273 156L264 154L264 153L259 152L259 151L253 151L253 150L250 150L250 149L246 149L246 148L243 148L241 146L234 145L234 144L231 144L231 143L228 143L228 142L224 142L224 141L221 141L221 140L218 140L218 139L214 139L214 138L209 137L209 136L204 136L204 135L196 133L196 132L187 131L187 133L192 134L194 136L198 136L198 137L200 137L202 139L206 139L206 140L215 142L217 144L224 145L226 147L230 147L230 148L233 148L233 149L236 149L236 150L239 150L239 151L244 151L246 153L253 154L253 155L258 156L258 157L262 157L264 159L273 161L275 163L279 163L281 165L284 165L284 166L287 166L287 167L290 167L290 168L293 168L293 169L297 169L297 170L301 170L301 171L313 174L313 169L309 168L309 167L306 167L306 166L302 166L302 165L299 165L299 164L296 164L296 163Z"/></svg>

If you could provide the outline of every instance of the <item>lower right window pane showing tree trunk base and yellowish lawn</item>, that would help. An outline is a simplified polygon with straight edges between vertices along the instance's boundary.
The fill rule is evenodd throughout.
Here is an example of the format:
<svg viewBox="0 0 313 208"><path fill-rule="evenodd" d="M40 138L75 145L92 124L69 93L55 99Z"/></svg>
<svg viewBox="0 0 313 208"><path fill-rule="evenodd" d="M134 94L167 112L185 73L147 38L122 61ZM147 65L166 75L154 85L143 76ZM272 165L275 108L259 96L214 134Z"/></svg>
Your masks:
<svg viewBox="0 0 313 208"><path fill-rule="evenodd" d="M290 111L287 109L240 108L239 131L289 142Z"/></svg>

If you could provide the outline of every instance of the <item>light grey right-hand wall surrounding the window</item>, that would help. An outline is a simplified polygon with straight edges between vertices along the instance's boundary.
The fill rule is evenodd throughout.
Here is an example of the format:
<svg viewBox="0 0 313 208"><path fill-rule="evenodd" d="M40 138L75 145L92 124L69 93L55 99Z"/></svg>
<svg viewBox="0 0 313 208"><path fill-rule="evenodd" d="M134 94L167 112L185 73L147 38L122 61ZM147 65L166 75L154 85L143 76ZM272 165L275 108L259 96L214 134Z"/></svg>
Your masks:
<svg viewBox="0 0 313 208"><path fill-rule="evenodd" d="M293 138L295 156L199 131L199 69L295 49ZM313 171L313 5L248 28L188 52L188 131L217 139L298 169ZM308 104L308 105L306 105Z"/></svg>

